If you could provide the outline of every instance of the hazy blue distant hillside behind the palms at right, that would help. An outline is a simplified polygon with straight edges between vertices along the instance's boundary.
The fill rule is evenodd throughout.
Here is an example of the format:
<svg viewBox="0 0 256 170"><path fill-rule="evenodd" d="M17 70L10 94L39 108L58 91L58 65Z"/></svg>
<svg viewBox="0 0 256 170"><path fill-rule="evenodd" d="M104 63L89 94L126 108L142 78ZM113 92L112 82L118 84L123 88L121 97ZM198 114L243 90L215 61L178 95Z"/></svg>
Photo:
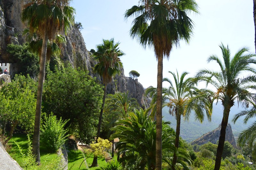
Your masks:
<svg viewBox="0 0 256 170"><path fill-rule="evenodd" d="M237 103L231 108L228 122L230 123L232 127L232 131L234 134L234 137L236 138L238 134L247 128L249 125L252 124L252 122L256 119L249 120L247 125L244 125L243 118L240 118L236 121L236 124L234 125L231 120L233 119L233 116L243 110L241 107L237 108ZM189 122L184 122L181 120L180 125L180 136L182 139L186 140L187 142L192 142L195 139L199 138L200 136L204 135L205 133L208 133L216 128L218 128L219 124L221 123L223 115L222 105L221 102L219 102L217 105L213 105L213 113L212 113L212 121L208 122L207 118L205 117L204 122L201 124L200 122L195 122L194 114L192 113L190 116ZM176 120L175 118L169 114L169 108L164 107L163 108L163 120L164 121L171 121L171 127L176 129Z"/></svg>

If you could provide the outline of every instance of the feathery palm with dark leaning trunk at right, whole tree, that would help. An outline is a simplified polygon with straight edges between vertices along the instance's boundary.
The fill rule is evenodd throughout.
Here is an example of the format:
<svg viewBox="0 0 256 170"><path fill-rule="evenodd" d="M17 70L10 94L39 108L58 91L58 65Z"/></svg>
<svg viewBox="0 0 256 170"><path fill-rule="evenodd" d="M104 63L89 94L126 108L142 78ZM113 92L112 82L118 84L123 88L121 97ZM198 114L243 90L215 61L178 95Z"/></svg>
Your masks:
<svg viewBox="0 0 256 170"><path fill-rule="evenodd" d="M254 75L256 71L251 66L251 64L256 64L255 54L246 53L248 48L244 47L238 50L234 57L231 58L228 46L225 47L222 43L219 46L222 51L223 61L216 55L211 55L207 61L216 61L220 66L220 71L202 69L196 76L199 81L206 82L206 85L211 84L216 89L214 99L217 102L220 100L223 105L223 118L215 159L215 170L220 169L230 108L234 105L235 100L241 103L243 107L248 107L253 97L249 90L256 89L255 85L251 85L251 83L256 82L256 76ZM254 74L246 75L244 72Z"/></svg>

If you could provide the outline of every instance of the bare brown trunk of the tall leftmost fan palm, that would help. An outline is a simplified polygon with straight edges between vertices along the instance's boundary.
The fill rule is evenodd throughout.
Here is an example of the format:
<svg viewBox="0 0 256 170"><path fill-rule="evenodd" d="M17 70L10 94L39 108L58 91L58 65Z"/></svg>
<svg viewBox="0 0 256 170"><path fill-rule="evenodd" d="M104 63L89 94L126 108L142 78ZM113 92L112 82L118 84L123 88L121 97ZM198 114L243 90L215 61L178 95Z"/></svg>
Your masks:
<svg viewBox="0 0 256 170"><path fill-rule="evenodd" d="M46 61L46 51L47 51L48 35L44 33L42 52L40 57L40 70L38 77L38 88L37 88L37 98L36 98L36 115L35 115L35 126L33 134L33 154L36 155L36 162L40 164L40 120L41 120L41 108L42 108L42 93L43 93L43 82L44 82L44 72L45 72L45 61Z"/></svg>

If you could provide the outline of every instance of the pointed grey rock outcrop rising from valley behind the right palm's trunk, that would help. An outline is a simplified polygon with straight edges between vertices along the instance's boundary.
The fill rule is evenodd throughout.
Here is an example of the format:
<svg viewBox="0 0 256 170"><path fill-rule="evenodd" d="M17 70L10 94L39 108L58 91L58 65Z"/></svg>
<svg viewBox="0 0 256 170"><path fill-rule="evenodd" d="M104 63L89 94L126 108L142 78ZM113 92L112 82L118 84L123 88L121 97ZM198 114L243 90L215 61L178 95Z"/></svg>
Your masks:
<svg viewBox="0 0 256 170"><path fill-rule="evenodd" d="M203 145L207 142L217 144L217 141L219 140L219 137L220 137L220 128L221 128L221 125L219 125L219 127L214 129L213 131L208 132L208 133L204 134L203 136L201 136L200 138L194 140L193 142L191 142L191 144L192 145L194 145L194 144ZM234 138L234 135L232 132L232 128L229 123L226 128L225 141L228 141L234 148L237 148L236 141L235 141L235 138Z"/></svg>

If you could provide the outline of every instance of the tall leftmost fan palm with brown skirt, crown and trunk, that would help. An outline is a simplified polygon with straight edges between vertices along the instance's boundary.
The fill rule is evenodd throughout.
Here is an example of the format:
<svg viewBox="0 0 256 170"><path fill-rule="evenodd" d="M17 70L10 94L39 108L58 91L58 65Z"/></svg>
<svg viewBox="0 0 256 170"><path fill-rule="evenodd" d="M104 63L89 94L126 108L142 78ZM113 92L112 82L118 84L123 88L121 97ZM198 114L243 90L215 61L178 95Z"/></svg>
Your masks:
<svg viewBox="0 0 256 170"><path fill-rule="evenodd" d="M40 164L40 119L42 106L42 91L47 53L47 42L55 38L56 34L64 31L66 34L75 20L75 9L68 6L70 0L32 0L24 6L21 20L29 27L31 36L36 33L41 39L42 51L40 55L40 70L38 77L38 90L36 99L36 118L33 135L33 154L36 162Z"/></svg>

